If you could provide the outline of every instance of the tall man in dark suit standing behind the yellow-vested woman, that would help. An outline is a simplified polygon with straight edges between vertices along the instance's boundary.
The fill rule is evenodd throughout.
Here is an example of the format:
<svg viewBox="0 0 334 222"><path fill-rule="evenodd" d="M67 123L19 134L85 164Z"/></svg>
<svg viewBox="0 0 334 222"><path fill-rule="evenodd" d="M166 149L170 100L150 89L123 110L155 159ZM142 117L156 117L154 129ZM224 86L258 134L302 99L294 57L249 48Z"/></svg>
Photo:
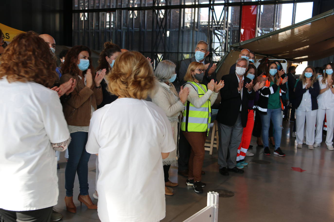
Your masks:
<svg viewBox="0 0 334 222"><path fill-rule="evenodd" d="M206 71L201 84L204 84L206 86L212 79L214 79L215 82L217 81L215 73L217 65L212 62L210 63L208 61L205 61L205 57L207 57L209 53L209 45L205 41L199 41L195 48L195 56L190 59L185 59L181 61L179 69L179 80L181 85L186 83L183 78L186 75L189 64L192 62L203 63L205 66Z"/></svg>

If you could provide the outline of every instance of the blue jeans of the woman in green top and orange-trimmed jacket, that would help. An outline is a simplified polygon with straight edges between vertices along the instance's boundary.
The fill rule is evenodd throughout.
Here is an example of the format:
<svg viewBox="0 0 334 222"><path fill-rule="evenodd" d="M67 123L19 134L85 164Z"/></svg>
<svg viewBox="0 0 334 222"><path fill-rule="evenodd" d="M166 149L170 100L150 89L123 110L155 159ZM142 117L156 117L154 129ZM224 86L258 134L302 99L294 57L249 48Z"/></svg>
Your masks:
<svg viewBox="0 0 334 222"><path fill-rule="evenodd" d="M267 114L260 114L262 123L263 146L269 147L269 127L270 119L274 126L275 149L281 146L282 137L282 109L268 109Z"/></svg>

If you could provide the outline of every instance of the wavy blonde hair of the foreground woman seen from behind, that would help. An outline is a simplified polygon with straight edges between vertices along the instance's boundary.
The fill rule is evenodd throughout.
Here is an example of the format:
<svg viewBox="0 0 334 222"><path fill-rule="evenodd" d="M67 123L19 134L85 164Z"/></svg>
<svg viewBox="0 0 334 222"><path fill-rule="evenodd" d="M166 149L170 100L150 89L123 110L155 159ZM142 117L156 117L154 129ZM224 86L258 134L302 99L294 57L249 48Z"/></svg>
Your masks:
<svg viewBox="0 0 334 222"><path fill-rule="evenodd" d="M107 75L108 90L119 97L146 99L156 86L150 62L139 52L122 53Z"/></svg>

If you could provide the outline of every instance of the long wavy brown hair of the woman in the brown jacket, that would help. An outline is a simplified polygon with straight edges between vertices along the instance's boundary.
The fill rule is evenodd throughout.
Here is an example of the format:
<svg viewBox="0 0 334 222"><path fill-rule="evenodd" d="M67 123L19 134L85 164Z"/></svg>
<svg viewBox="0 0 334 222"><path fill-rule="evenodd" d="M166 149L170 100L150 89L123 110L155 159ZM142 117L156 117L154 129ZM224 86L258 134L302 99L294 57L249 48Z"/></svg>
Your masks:
<svg viewBox="0 0 334 222"><path fill-rule="evenodd" d="M94 73L93 66L92 66L92 58L91 58L91 50L87 46L73 46L70 50L68 50L65 62L61 65L61 73L62 74L70 74L76 78L79 75L80 70L76 64L78 60L78 55L82 51L87 51L89 53L89 67L88 69L92 70ZM83 71L82 74L86 74L87 70Z"/></svg>

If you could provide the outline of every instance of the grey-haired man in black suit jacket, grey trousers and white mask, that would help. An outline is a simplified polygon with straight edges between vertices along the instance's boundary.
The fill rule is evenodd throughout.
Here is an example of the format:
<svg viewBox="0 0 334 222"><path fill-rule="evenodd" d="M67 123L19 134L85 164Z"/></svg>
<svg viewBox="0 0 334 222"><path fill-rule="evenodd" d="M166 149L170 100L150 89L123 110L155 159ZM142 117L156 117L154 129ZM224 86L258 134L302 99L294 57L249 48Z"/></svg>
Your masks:
<svg viewBox="0 0 334 222"><path fill-rule="evenodd" d="M248 100L253 100L253 80L244 74L248 69L248 60L236 61L235 73L225 75L222 80L224 88L220 90L221 102L217 114L219 147L219 172L228 176L228 171L243 173L236 167L236 155L241 142L242 130L246 127Z"/></svg>

